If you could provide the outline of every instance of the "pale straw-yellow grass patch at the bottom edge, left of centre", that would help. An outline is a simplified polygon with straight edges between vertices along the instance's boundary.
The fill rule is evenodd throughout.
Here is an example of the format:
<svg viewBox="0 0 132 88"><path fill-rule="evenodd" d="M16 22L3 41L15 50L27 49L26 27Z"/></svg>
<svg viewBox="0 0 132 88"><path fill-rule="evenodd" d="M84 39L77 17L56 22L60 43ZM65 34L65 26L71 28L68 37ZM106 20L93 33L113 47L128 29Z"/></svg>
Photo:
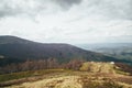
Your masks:
<svg viewBox="0 0 132 88"><path fill-rule="evenodd" d="M24 82L20 86L9 88L82 88L81 85L77 82L78 78L78 76L65 76L43 79L35 82Z"/></svg>

